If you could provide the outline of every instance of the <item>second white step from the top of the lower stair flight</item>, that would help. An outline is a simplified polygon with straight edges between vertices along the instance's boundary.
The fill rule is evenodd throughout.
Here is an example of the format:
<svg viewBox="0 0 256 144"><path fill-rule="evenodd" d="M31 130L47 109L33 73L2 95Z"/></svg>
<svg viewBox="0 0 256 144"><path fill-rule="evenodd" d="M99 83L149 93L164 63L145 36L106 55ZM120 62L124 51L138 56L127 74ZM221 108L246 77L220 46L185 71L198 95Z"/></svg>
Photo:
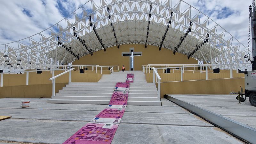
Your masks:
<svg viewBox="0 0 256 144"><path fill-rule="evenodd" d="M131 84L131 83L130 83ZM136 83L135 83L136 84ZM104 83L98 83L98 84L66 84L66 87L112 87L114 88L116 84L109 84L109 85L105 85ZM156 88L156 85L148 85L148 83L142 83L140 85L130 85L130 88Z"/></svg>

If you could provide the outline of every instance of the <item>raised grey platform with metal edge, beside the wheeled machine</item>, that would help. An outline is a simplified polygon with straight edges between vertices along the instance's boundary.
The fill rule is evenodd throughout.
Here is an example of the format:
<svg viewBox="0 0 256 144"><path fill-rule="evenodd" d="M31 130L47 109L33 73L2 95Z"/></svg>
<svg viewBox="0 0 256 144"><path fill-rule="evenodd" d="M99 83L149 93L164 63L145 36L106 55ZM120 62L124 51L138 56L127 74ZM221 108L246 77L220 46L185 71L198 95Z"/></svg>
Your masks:
<svg viewBox="0 0 256 144"><path fill-rule="evenodd" d="M250 104L248 97L239 104L236 96L169 94L166 98L242 139L256 140L255 135L248 135L256 134L256 107Z"/></svg>

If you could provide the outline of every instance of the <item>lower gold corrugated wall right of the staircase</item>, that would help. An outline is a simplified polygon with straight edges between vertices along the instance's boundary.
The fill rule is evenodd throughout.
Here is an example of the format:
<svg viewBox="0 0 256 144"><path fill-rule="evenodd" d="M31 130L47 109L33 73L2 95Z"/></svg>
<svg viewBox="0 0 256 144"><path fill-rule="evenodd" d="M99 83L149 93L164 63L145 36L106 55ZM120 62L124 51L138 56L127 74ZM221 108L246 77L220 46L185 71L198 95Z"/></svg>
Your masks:
<svg viewBox="0 0 256 144"><path fill-rule="evenodd" d="M244 78L213 79L161 83L161 98L165 94L229 94L244 88Z"/></svg>

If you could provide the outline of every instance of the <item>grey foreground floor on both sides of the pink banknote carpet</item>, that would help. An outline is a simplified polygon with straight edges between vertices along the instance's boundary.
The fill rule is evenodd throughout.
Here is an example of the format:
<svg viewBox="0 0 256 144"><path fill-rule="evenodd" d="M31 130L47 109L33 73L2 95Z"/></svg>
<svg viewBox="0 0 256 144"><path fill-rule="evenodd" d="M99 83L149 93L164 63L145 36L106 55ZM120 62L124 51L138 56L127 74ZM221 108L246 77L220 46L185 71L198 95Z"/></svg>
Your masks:
<svg viewBox="0 0 256 144"><path fill-rule="evenodd" d="M0 99L0 143L63 143L106 105L52 104L48 99ZM119 143L243 143L167 99L162 106L128 105L112 144ZM210 105L211 106L211 105ZM249 106L248 106L249 108Z"/></svg>

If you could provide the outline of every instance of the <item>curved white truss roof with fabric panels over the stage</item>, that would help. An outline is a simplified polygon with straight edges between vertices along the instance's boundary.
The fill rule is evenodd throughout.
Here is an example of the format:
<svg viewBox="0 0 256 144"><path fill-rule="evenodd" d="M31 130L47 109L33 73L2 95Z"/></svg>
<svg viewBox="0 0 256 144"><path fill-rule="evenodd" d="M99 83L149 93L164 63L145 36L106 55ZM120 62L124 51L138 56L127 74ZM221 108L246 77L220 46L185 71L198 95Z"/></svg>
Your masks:
<svg viewBox="0 0 256 144"><path fill-rule="evenodd" d="M152 4L151 18L149 18L150 4ZM178 52L183 54L193 52L196 44L204 41L206 34L209 34L209 42L192 57L212 64L239 63L241 69L248 66L242 64L246 62L244 59L247 53L246 47L204 13L182 0L176 4L173 4L172 0L100 0L100 2L90 0L52 27L17 42L0 45L0 63L6 66L9 63L9 66L13 67L21 64L23 68L47 68L52 64L70 63L76 60L70 52L58 45L58 36L60 42L70 46L76 55L79 54L81 57L89 54L73 36L73 27L93 52L102 50L102 45L90 27L89 16L92 17L92 23L96 26L96 31L106 48L118 44L145 44L148 21L150 24L146 44L159 46L171 12L173 12L172 24L165 37L163 48L173 50L180 42L180 37L187 31L189 22L193 22L192 30Z"/></svg>

